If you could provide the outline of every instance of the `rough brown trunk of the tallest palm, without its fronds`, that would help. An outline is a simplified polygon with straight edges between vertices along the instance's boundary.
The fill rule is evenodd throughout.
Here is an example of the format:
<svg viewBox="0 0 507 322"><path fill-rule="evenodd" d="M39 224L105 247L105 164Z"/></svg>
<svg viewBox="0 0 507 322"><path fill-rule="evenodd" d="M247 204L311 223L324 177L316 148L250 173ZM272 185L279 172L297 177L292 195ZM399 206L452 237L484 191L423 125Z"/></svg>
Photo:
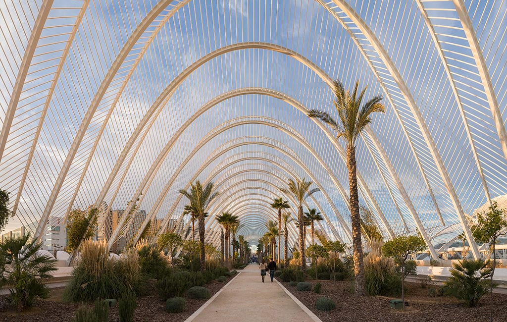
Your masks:
<svg viewBox="0 0 507 322"><path fill-rule="evenodd" d="M363 245L361 244L359 197L357 195L357 164L355 160L355 147L351 145L347 145L347 167L349 170L350 219L354 249L355 295L364 295L365 268L363 265Z"/></svg>

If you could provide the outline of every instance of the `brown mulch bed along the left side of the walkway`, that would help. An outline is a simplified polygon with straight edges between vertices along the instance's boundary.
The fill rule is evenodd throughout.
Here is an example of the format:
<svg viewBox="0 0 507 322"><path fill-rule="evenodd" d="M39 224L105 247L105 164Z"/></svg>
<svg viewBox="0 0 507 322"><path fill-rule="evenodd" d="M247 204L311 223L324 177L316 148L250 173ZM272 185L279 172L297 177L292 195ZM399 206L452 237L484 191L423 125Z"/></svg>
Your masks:
<svg viewBox="0 0 507 322"><path fill-rule="evenodd" d="M225 282L212 281L206 285L211 296L218 292L227 284L232 277L228 277ZM61 302L61 294L64 288L51 289L51 296L47 300L38 301L34 307L24 312L16 312L10 306L7 296L0 296L0 321L9 322L59 322L70 321L79 304ZM158 296L143 296L137 298L137 307L135 309L136 321L184 321L192 315L207 300L194 300L187 298L186 310L181 313L167 313L165 311L165 301ZM119 321L118 306L109 311L110 321Z"/></svg>

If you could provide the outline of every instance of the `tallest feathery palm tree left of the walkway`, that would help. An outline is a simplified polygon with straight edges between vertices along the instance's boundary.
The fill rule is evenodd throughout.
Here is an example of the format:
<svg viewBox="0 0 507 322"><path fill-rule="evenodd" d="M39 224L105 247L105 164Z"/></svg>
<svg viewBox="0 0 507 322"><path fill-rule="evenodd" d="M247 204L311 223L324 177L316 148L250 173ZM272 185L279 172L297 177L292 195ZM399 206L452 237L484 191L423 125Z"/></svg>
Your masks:
<svg viewBox="0 0 507 322"><path fill-rule="evenodd" d="M206 208L211 200L219 195L213 191L213 183L208 183L204 188L201 182L197 180L195 184L190 184L190 191L179 190L178 192L190 201L190 206L194 209L199 221L199 247L201 250L201 270L206 269L206 251L204 247L204 218L206 217Z"/></svg>

